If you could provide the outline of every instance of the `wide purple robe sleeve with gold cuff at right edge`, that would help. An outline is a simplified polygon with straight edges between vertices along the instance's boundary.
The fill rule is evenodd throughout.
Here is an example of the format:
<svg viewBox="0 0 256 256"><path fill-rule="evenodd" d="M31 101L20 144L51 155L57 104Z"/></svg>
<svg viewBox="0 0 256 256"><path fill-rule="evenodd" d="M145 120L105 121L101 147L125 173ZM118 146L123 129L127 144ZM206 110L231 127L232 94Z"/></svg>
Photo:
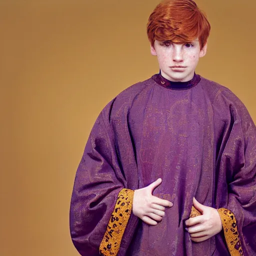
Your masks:
<svg viewBox="0 0 256 256"><path fill-rule="evenodd" d="M216 163L216 205L231 256L256 255L256 127L228 89L214 101L221 116ZM223 189L227 185L227 189Z"/></svg>

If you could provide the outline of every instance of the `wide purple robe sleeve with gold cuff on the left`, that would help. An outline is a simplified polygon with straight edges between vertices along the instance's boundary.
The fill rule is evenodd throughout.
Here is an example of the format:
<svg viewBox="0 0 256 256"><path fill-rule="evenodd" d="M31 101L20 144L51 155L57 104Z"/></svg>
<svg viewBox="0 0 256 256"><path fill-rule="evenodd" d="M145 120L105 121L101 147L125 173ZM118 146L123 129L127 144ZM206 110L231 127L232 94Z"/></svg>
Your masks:
<svg viewBox="0 0 256 256"><path fill-rule="evenodd" d="M125 251L136 218L133 190L127 188L110 125L109 102L99 114L78 165L70 203L70 234L83 256L117 255ZM128 229L128 230L127 230ZM124 242L121 243L121 240Z"/></svg>

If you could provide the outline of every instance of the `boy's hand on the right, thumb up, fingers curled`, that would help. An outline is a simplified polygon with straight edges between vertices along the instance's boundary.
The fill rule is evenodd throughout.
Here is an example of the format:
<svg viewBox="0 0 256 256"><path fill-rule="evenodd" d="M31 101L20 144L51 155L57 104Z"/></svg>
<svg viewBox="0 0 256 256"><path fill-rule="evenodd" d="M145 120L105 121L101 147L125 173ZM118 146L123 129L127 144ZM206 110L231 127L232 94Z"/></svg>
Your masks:
<svg viewBox="0 0 256 256"><path fill-rule="evenodd" d="M219 233L222 229L222 222L218 211L199 203L194 197L193 205L202 215L189 218L185 221L191 240L201 242Z"/></svg>

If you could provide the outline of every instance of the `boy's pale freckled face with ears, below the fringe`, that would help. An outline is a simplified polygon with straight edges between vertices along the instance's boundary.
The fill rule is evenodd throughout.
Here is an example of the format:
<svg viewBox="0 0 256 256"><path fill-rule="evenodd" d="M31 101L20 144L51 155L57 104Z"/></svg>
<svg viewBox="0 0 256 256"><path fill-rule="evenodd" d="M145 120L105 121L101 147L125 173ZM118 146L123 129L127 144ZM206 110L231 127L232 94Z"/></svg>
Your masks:
<svg viewBox="0 0 256 256"><path fill-rule="evenodd" d="M157 56L164 78L170 81L189 81L193 78L200 57L206 54L207 43L202 49L198 39L189 43L160 42L151 45L151 54Z"/></svg>

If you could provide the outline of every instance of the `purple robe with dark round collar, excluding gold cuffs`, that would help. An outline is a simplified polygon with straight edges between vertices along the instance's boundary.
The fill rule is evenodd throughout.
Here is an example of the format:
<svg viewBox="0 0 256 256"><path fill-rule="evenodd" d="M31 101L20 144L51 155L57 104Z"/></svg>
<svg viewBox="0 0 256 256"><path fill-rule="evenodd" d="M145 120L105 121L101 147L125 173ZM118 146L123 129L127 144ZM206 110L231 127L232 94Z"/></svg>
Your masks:
<svg viewBox="0 0 256 256"><path fill-rule="evenodd" d="M190 240L184 221L193 196L230 210L239 236L233 255L255 256L255 165L255 125L228 88L196 74L185 83L155 74L119 93L91 130L72 192L72 241L81 255L99 255L118 193L160 177L153 194L173 206L155 226L130 212L118 256L230 255L224 230L203 242Z"/></svg>

